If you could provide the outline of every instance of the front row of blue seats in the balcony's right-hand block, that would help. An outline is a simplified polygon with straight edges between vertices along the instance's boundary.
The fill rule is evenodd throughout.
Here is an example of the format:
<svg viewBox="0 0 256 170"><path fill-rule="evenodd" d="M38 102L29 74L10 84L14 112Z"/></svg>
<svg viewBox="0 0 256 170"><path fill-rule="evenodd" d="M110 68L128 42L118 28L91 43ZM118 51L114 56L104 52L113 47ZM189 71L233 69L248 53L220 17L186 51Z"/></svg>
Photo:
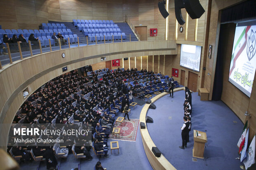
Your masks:
<svg viewBox="0 0 256 170"><path fill-rule="evenodd" d="M126 40L125 33L88 34L90 41L95 41L95 36L97 37L97 41L104 41L104 36L105 36L105 40L107 41L112 40L113 36L114 36L114 40L121 40L121 38L123 38L123 40Z"/></svg>

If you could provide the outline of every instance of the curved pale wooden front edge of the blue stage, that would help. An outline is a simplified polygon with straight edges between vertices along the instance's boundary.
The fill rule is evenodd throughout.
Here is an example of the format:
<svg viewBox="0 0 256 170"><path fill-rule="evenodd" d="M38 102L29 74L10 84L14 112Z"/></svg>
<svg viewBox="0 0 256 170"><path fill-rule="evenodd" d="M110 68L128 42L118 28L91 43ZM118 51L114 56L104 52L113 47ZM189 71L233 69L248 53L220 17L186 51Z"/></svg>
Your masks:
<svg viewBox="0 0 256 170"><path fill-rule="evenodd" d="M183 89L184 87L180 87L180 88L175 88L173 91L175 92ZM167 94L169 93L163 92L159 95L156 95L154 98L151 99L152 103ZM147 130L146 116L147 116L147 110L149 109L149 106L150 104L145 104L140 112L140 122L145 123L145 129L140 128L140 134L142 138L142 144L143 144L145 153L147 155L147 158L149 160L149 163L152 165L154 170L176 170L176 168L174 168L173 165L171 165L171 163L163 156L163 154L161 154L161 156L157 158L152 152L152 147L157 147L157 146L154 144Z"/></svg>

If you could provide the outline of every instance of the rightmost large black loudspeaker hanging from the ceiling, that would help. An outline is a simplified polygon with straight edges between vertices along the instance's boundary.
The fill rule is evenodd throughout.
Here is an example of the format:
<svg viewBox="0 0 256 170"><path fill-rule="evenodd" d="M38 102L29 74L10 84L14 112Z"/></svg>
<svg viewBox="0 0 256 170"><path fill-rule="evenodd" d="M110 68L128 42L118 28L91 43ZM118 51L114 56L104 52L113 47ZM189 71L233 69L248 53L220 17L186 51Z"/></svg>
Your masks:
<svg viewBox="0 0 256 170"><path fill-rule="evenodd" d="M192 19L197 19L204 14L205 10L199 0L183 0L187 13Z"/></svg>

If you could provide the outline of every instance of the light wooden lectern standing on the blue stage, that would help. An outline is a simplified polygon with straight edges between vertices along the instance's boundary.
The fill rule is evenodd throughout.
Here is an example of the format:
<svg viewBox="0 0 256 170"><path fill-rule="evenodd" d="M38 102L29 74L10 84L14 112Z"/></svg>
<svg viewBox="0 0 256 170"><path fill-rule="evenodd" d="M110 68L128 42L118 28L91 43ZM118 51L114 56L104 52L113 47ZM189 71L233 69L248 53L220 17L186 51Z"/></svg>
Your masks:
<svg viewBox="0 0 256 170"><path fill-rule="evenodd" d="M193 157L201 158L201 159L204 158L204 146L206 141L207 141L207 137L205 132L194 130Z"/></svg>

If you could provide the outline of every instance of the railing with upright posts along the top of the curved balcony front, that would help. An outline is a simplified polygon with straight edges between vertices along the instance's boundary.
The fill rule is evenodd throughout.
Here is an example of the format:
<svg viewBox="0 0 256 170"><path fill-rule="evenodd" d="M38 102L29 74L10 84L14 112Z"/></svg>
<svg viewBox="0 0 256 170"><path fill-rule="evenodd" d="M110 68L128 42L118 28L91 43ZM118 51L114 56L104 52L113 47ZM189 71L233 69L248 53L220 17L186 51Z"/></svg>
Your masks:
<svg viewBox="0 0 256 170"><path fill-rule="evenodd" d="M3 65L12 64L14 61L23 60L23 58L31 57L37 54L43 54L46 52L69 49L80 46L107 44L116 42L131 42L131 36L126 35L120 38L116 38L115 35L111 37L73 37L65 39L48 39L28 42L17 43L5 43L0 45L0 69Z"/></svg>

